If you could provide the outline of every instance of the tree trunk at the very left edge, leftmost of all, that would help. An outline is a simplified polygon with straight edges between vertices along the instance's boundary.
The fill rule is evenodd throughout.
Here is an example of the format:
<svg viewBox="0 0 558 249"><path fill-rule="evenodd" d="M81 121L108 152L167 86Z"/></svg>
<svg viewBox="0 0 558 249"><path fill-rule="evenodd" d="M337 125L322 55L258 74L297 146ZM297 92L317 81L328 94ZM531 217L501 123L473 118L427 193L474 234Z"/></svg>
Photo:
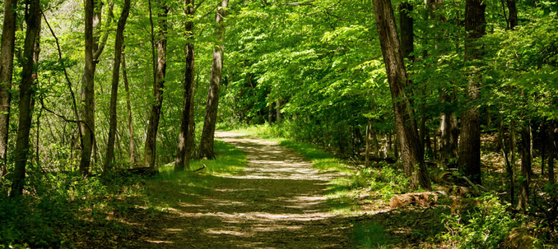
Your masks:
<svg viewBox="0 0 558 249"><path fill-rule="evenodd" d="M4 22L0 45L0 177L6 172L9 112L12 100L13 52L16 41L17 0L4 1Z"/></svg>

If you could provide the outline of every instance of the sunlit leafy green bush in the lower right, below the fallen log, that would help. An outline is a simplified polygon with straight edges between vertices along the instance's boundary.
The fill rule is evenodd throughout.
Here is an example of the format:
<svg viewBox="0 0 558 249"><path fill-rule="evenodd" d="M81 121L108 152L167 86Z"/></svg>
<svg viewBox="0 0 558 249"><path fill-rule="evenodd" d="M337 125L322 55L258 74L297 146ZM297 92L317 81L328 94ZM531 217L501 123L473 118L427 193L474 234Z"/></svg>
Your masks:
<svg viewBox="0 0 558 249"><path fill-rule="evenodd" d="M478 205L462 213L442 214L448 231L437 234L437 239L458 248L496 248L520 223L506 211L510 204L500 204L494 195L484 195L475 202Z"/></svg>

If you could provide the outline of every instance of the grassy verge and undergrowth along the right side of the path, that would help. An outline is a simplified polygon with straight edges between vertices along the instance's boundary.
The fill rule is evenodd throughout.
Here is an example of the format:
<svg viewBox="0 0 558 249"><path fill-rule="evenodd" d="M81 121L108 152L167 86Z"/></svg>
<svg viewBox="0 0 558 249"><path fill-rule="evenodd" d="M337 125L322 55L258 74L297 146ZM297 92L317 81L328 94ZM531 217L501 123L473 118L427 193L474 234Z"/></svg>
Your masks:
<svg viewBox="0 0 558 249"><path fill-rule="evenodd" d="M338 159L316 144L304 142L304 138L292 132L289 123L219 128L275 140L314 162L318 170L345 173L330 182L328 203L331 212L358 217L352 237L358 248L501 248L507 247L506 237L512 228L523 226L534 231L542 227L521 213L508 212L511 205L493 190L468 194L463 197L466 200L463 205L456 205L448 198L430 207L391 209L388 203L393 196L411 192L398 163L380 162L364 168L354 161ZM433 187L445 190L452 186L434 184ZM554 242L539 238L537 243L551 248Z"/></svg>

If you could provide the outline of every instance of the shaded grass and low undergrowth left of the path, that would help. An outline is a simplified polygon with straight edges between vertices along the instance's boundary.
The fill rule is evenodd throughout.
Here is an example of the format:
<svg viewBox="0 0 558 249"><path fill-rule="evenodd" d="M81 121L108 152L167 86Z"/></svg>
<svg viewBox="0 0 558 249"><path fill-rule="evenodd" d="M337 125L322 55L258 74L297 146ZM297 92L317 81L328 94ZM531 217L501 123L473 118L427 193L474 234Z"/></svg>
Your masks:
<svg viewBox="0 0 558 249"><path fill-rule="evenodd" d="M0 197L0 248L137 247L149 224L180 203L191 203L218 184L219 174L246 166L246 155L215 141L217 159L191 162L203 171L176 173L159 167L156 176L113 174L108 179L74 173L29 173L28 193L18 199ZM45 178L36 180L37 178ZM0 184L2 193L9 184Z"/></svg>

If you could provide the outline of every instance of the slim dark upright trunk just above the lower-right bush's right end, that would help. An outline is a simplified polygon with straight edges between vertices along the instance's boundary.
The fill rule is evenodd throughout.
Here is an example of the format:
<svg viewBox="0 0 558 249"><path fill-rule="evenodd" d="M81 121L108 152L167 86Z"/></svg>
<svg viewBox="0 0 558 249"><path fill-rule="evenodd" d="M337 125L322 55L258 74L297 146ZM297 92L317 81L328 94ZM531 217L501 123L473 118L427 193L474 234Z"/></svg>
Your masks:
<svg viewBox="0 0 558 249"><path fill-rule="evenodd" d="M519 204L517 209L526 210L529 202L529 184L531 183L531 135L528 126L521 131L521 175L523 176L519 190Z"/></svg>

